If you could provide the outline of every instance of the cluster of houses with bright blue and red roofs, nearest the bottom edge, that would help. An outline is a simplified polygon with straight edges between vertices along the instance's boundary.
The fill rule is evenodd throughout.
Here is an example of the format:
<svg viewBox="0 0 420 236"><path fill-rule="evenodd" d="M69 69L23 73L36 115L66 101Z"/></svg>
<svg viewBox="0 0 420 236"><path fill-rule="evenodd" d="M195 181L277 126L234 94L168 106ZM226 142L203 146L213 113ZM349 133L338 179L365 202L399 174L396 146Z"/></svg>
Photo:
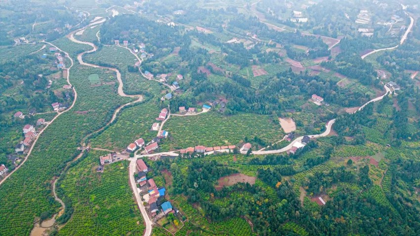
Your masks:
<svg viewBox="0 0 420 236"><path fill-rule="evenodd" d="M138 170L136 182L140 187L147 189L147 203L149 204L151 216L154 217L157 215L159 207L161 207L162 212L165 215L171 212L175 213L170 202L165 201L166 189L164 187L158 187L153 178L147 179L146 172L149 171L149 169L146 163L144 163L142 159L138 159L136 161L136 168Z"/></svg>

